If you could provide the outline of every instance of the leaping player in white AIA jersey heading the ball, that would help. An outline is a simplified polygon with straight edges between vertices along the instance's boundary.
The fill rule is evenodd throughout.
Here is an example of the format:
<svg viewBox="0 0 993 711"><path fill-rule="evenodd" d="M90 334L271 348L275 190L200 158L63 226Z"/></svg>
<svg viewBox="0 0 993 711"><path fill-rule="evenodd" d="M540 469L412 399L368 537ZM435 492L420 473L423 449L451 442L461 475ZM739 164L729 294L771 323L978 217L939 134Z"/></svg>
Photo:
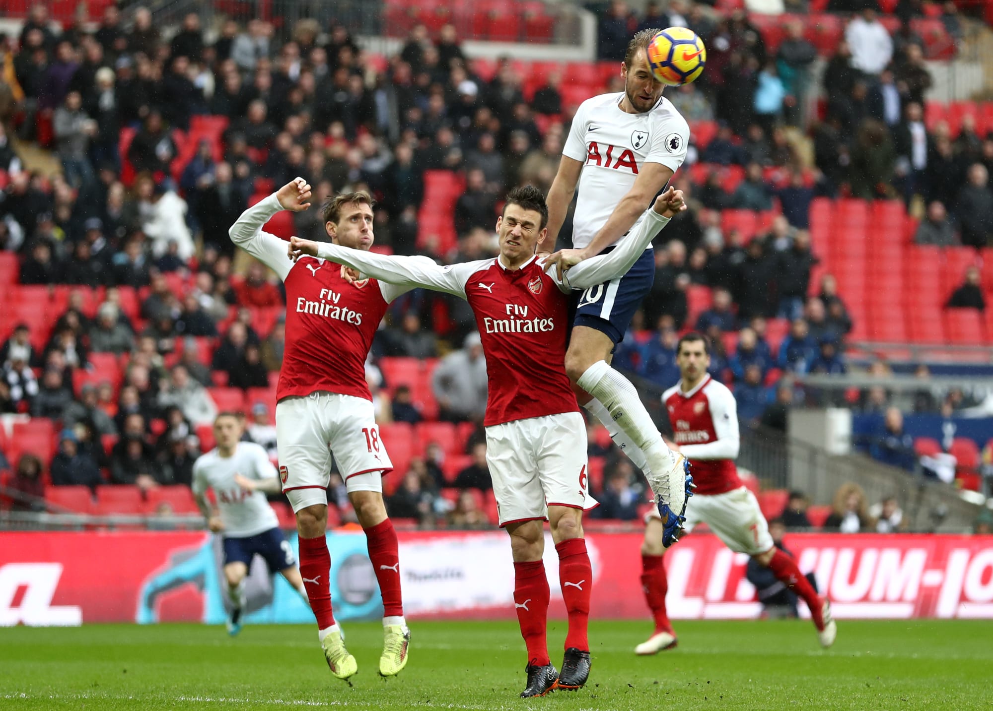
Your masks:
<svg viewBox="0 0 993 711"><path fill-rule="evenodd" d="M629 44L621 65L624 91L594 96L576 111L548 191L543 245L554 247L578 185L572 233L576 248L551 255L546 270L566 270L616 248L626 234L632 239L630 232L641 215L686 158L689 126L662 96L663 86L648 68L646 48L657 32L642 30ZM667 546L675 540L689 488L685 460L668 450L635 386L610 365L615 347L651 290L654 273L653 252L646 249L625 274L583 292L565 368L581 388L580 404L604 424L647 477Z"/></svg>

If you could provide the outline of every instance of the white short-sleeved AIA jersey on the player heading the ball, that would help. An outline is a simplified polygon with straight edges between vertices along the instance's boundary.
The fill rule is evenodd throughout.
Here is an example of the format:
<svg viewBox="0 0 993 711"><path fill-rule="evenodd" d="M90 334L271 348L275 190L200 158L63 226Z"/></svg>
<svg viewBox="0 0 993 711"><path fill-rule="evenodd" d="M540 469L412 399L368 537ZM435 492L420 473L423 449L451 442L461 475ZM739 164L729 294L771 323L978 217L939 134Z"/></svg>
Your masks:
<svg viewBox="0 0 993 711"><path fill-rule="evenodd" d="M644 163L660 163L675 173L686 158L689 126L671 101L662 96L649 111L626 113L619 105L623 97L622 91L583 101L562 149L562 155L583 163L572 231L577 249L604 226Z"/></svg>

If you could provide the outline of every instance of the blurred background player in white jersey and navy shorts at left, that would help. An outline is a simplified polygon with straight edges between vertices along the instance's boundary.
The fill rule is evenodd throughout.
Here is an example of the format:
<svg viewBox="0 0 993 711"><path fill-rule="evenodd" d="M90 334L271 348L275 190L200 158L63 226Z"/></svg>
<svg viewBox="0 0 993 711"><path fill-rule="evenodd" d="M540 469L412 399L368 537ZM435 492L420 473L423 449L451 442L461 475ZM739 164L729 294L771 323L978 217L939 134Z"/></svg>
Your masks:
<svg viewBox="0 0 993 711"><path fill-rule="evenodd" d="M265 498L266 494L279 494L276 468L261 445L240 442L241 433L238 416L221 412L213 420L217 446L193 465L194 498L208 527L223 538L224 579L231 604L227 632L231 635L241 630L244 579L256 555L265 560L270 573L281 573L307 601L293 549ZM213 489L216 510L207 499L209 489Z"/></svg>

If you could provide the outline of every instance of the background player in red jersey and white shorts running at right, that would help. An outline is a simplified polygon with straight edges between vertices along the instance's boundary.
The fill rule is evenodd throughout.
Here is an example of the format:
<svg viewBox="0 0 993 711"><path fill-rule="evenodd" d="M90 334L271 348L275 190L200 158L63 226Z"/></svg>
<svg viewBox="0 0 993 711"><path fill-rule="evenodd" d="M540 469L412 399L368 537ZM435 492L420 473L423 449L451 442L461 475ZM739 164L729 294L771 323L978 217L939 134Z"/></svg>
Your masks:
<svg viewBox="0 0 993 711"><path fill-rule="evenodd" d="M694 333L679 339L676 364L682 377L665 391L662 401L672 425L674 443L669 447L689 458L696 483L694 496L686 505L686 531L704 522L731 550L748 553L768 567L803 598L820 643L830 646L837 635L830 603L817 595L793 559L774 545L759 501L738 478L734 462L739 448L738 406L731 390L707 374L710 352L706 339ZM645 523L641 586L655 619L655 631L635 651L654 654L675 646L676 636L665 614L668 584L662 565L664 549L659 542L662 524L651 513Z"/></svg>

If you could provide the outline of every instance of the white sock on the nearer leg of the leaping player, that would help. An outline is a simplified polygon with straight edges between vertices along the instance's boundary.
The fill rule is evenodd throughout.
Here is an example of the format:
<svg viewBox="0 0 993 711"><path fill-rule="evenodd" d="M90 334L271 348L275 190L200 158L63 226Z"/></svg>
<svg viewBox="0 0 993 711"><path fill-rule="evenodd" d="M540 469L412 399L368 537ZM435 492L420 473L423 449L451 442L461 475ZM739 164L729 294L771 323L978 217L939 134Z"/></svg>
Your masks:
<svg viewBox="0 0 993 711"><path fill-rule="evenodd" d="M656 494L668 491L668 487L654 486L656 482L653 480L666 478L675 469L676 458L662 441L631 380L606 360L598 360L580 375L576 384L600 400L610 419L644 454L647 464L644 473L646 477L650 475L648 484L652 485L652 491Z"/></svg>

